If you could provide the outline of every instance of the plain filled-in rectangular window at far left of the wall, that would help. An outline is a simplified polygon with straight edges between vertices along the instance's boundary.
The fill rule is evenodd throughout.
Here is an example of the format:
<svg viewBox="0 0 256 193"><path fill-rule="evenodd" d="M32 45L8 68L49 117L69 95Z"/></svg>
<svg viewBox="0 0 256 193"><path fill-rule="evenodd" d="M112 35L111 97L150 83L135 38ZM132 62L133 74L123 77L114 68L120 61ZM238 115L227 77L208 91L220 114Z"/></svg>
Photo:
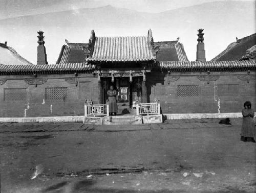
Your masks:
<svg viewBox="0 0 256 193"><path fill-rule="evenodd" d="M27 101L26 88L5 88L4 101Z"/></svg>

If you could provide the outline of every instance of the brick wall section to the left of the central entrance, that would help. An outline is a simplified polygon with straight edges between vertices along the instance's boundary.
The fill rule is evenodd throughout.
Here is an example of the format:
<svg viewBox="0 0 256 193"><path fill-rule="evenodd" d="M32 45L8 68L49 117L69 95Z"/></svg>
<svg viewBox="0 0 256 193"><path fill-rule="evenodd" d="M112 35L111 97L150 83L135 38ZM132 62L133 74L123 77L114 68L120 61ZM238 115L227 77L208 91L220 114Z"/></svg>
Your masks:
<svg viewBox="0 0 256 193"><path fill-rule="evenodd" d="M1 76L0 79L7 79L0 85L1 117L83 115L84 99L98 104L98 79L92 75L78 75L77 86L74 75L38 76L37 87L31 76ZM42 79L47 81L40 84Z"/></svg>

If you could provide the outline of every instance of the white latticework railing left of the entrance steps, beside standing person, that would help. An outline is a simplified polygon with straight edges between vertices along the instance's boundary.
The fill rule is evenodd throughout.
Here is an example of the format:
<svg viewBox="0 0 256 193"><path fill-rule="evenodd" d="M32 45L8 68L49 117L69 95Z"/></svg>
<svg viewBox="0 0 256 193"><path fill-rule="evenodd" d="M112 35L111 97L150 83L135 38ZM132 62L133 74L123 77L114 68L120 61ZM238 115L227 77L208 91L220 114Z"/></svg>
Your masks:
<svg viewBox="0 0 256 193"><path fill-rule="evenodd" d="M84 105L84 116L108 116L109 105Z"/></svg>

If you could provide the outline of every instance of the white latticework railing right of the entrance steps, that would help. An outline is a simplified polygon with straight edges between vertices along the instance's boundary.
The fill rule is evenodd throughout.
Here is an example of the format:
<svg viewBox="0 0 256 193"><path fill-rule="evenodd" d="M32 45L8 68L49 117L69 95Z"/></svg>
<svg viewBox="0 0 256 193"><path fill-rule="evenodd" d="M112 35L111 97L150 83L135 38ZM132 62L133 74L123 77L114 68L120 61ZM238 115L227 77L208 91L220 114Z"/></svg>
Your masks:
<svg viewBox="0 0 256 193"><path fill-rule="evenodd" d="M140 103L136 105L137 115L139 114L160 114L160 103Z"/></svg>

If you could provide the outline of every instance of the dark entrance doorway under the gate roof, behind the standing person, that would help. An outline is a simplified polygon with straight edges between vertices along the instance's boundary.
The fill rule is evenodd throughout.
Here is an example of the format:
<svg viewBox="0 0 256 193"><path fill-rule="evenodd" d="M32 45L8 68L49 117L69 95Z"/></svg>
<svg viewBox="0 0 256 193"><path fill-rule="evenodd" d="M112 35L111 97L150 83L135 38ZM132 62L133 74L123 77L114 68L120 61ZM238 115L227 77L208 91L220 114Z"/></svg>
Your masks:
<svg viewBox="0 0 256 193"><path fill-rule="evenodd" d="M103 103L108 99L106 92L113 85L117 91L117 114L135 114L136 103L141 103L141 81L140 77L133 77L132 82L129 77L115 77L114 82L111 82L111 78L103 78Z"/></svg>

